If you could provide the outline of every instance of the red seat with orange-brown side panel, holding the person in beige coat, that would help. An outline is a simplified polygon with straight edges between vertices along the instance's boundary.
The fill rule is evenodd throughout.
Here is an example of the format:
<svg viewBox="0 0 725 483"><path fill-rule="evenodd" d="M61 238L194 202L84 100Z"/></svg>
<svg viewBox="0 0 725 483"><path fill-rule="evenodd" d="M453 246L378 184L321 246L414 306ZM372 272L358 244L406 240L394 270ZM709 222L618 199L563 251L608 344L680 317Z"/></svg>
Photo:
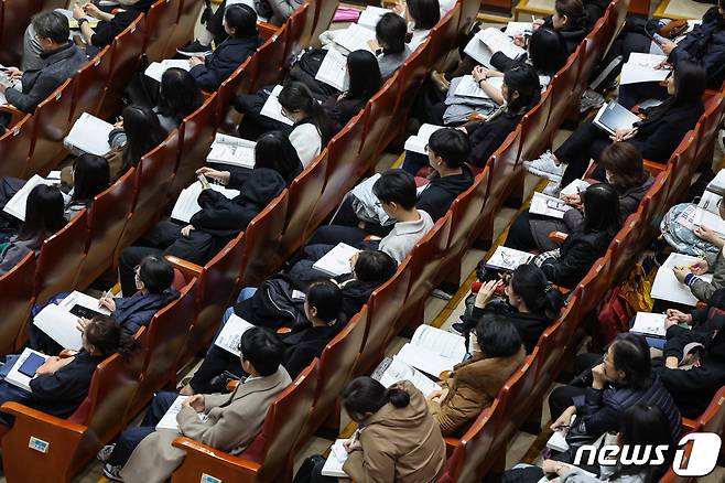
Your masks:
<svg viewBox="0 0 725 483"><path fill-rule="evenodd" d="M316 373L317 359L277 396L260 433L236 457L188 438L176 438L173 446L186 457L172 474L172 483L291 481L292 449L310 418Z"/></svg>

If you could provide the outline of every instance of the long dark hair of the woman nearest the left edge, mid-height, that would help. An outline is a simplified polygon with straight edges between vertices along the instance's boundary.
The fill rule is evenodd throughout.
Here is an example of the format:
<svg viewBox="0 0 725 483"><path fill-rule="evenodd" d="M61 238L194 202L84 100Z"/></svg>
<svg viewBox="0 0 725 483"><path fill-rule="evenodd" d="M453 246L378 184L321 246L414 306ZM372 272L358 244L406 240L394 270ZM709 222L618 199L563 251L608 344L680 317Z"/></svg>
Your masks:
<svg viewBox="0 0 725 483"><path fill-rule="evenodd" d="M39 184L33 187L25 202L25 222L20 227L18 239L44 240L61 230L67 223L64 203L57 186Z"/></svg>

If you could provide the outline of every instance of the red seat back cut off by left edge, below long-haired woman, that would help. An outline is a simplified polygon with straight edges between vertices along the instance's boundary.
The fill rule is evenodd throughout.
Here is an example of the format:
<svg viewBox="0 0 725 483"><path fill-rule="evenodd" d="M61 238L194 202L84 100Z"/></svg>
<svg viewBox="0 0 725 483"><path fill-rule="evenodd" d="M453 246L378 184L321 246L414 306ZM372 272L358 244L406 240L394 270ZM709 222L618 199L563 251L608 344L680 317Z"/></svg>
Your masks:
<svg viewBox="0 0 725 483"><path fill-rule="evenodd" d="M0 355L12 353L33 307L35 254L28 254L12 270L0 277Z"/></svg>

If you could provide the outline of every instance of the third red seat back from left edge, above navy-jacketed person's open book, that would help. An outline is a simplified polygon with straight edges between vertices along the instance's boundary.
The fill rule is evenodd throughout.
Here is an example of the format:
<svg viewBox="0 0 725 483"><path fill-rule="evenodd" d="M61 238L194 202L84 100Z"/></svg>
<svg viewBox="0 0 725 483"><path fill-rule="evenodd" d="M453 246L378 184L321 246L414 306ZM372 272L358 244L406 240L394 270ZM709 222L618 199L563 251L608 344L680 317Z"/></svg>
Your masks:
<svg viewBox="0 0 725 483"><path fill-rule="evenodd" d="M110 267L131 214L134 184L136 169L132 168L108 190L96 196L90 205L86 258L78 275L78 287L87 287Z"/></svg>

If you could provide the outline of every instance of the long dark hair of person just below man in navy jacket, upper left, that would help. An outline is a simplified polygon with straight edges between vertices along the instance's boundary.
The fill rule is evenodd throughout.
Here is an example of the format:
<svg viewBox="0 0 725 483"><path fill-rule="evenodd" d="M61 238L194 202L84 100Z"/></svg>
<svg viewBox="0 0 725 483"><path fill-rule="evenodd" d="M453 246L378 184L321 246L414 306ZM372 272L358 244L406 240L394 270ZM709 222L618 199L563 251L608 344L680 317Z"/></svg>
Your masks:
<svg viewBox="0 0 725 483"><path fill-rule="evenodd" d="M181 125L186 116L198 109L203 103L202 90L188 72L172 67L161 76L156 109L162 116L174 119L176 126Z"/></svg>

